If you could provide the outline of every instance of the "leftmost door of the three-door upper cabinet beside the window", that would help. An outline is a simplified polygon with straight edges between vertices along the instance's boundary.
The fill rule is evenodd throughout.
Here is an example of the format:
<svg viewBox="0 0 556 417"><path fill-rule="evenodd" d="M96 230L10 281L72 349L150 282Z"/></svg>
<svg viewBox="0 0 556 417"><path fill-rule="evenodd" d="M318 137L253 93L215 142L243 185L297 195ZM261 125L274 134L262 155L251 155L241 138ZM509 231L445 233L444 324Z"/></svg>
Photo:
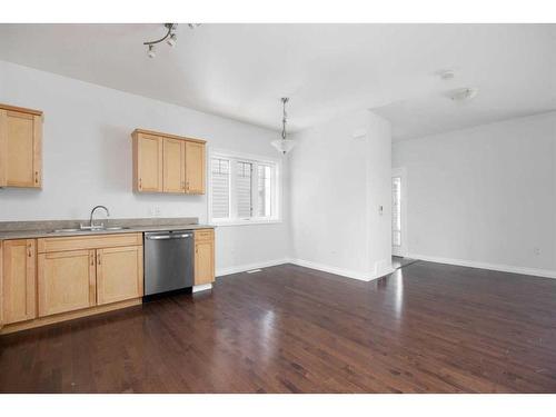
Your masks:
<svg viewBox="0 0 556 417"><path fill-rule="evenodd" d="M136 139L136 189L141 192L162 191L162 138L139 133Z"/></svg>

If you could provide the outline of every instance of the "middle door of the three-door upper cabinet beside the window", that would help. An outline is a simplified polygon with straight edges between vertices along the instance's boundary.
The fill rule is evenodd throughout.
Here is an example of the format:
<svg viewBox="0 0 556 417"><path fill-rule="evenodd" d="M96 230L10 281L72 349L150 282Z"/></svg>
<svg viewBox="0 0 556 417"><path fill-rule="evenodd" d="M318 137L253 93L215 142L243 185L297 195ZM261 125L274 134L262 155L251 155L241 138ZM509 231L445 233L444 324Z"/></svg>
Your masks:
<svg viewBox="0 0 556 417"><path fill-rule="evenodd" d="M169 138L162 143L163 190L186 192L186 143Z"/></svg>

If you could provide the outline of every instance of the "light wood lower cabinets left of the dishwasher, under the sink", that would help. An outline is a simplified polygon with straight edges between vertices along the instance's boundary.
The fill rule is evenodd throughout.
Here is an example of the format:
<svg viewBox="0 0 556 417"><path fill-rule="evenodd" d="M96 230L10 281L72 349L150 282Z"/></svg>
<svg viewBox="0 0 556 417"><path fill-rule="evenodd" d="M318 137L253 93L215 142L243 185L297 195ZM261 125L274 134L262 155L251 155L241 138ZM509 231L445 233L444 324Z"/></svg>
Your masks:
<svg viewBox="0 0 556 417"><path fill-rule="evenodd" d="M142 234L0 240L0 334L141 304Z"/></svg>

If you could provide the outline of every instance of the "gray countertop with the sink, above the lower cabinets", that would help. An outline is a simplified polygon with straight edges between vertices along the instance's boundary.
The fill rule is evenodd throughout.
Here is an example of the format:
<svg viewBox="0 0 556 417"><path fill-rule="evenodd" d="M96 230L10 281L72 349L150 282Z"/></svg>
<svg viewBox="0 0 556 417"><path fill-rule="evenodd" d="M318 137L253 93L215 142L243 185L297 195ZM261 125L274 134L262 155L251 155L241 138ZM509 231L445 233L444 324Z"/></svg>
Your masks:
<svg viewBox="0 0 556 417"><path fill-rule="evenodd" d="M133 222L133 220L137 220ZM181 220L181 221L180 221ZM109 227L122 226L125 229L119 230L78 230L78 231L57 231L54 229L62 228L79 228L78 220L48 220L48 221L11 221L0 222L0 240L9 239L36 239L36 238L54 238L66 236L92 236L92 235L117 235L117 234L133 234L145 231L163 231L163 230L195 230L195 229L214 229L214 226L199 225L192 222L189 218L183 219L111 219ZM87 221L88 222L88 221ZM29 229L26 229L26 226Z"/></svg>

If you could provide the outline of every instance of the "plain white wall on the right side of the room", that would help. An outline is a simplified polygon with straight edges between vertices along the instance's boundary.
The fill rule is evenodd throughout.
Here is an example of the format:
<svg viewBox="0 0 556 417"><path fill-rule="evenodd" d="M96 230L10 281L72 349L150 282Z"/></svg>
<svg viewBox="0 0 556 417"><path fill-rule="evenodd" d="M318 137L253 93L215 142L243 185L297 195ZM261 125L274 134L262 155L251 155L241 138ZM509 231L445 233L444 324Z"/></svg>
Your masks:
<svg viewBox="0 0 556 417"><path fill-rule="evenodd" d="M410 256L556 276L556 112L397 142L393 167Z"/></svg>

